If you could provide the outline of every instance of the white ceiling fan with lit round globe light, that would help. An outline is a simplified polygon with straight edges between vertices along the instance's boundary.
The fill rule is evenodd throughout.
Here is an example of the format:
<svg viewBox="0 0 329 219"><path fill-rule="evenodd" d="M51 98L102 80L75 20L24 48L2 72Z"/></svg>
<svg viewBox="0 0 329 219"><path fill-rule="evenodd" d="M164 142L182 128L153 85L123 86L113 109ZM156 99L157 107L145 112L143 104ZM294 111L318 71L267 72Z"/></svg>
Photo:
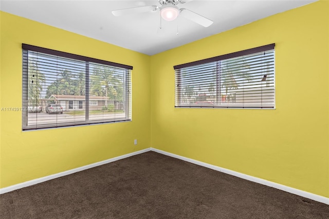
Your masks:
<svg viewBox="0 0 329 219"><path fill-rule="evenodd" d="M178 4L184 4L184 0L158 0L160 7L156 5L135 7L135 8L125 8L112 11L114 16L129 15L133 13L143 13L149 11L158 11L160 10L160 15L162 19L166 21L173 21L178 16L184 16L186 19L189 19L199 25L204 27L209 27L213 21L207 19L206 17L199 15L193 11L190 11L186 8L178 8Z"/></svg>

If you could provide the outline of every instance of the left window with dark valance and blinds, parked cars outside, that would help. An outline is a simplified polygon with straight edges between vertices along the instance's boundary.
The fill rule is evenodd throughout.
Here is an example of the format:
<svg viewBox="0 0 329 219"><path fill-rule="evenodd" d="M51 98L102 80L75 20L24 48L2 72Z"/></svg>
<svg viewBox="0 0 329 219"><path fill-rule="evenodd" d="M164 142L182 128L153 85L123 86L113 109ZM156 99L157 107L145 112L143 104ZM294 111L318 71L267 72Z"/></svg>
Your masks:
<svg viewBox="0 0 329 219"><path fill-rule="evenodd" d="M22 48L23 130L131 121L132 66Z"/></svg>

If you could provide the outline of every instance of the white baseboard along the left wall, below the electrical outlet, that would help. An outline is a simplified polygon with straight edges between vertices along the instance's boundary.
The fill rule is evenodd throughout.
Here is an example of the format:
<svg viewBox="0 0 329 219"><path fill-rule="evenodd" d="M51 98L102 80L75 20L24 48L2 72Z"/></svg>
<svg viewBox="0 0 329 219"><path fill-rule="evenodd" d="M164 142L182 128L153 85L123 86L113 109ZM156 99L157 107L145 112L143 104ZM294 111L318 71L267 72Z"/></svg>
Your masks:
<svg viewBox="0 0 329 219"><path fill-rule="evenodd" d="M61 172L61 173L52 174L52 175L41 177L41 178L38 178L38 179L32 179L32 180L29 180L29 181L26 181L26 182L22 182L20 184L16 184L16 185L13 185L13 186L2 188L2 189L0 189L0 194L11 192L11 191L14 191L16 189L21 189L21 188L32 186L32 185L35 185L35 184L39 184L41 182L48 181L50 179L55 179L55 178L66 176L66 175L69 175L69 174L72 174L72 173L77 173L77 172L87 170L87 169L90 169L90 168L93 168L93 167L101 166L101 165L104 165L106 163L111 163L111 162L121 160L121 159L124 159L124 158L127 158L127 157L131 157L131 156L134 156L134 155L137 155L137 154L145 153L145 152L148 152L150 150L151 149L148 148L148 149L136 151L136 152L133 152L133 153L130 153L130 154L125 154L125 155L122 155L122 156L114 157L114 158L103 160L103 161L96 162L96 163L92 163L90 165L86 165L86 166L79 167L79 168L76 168L76 169L64 171L64 172Z"/></svg>

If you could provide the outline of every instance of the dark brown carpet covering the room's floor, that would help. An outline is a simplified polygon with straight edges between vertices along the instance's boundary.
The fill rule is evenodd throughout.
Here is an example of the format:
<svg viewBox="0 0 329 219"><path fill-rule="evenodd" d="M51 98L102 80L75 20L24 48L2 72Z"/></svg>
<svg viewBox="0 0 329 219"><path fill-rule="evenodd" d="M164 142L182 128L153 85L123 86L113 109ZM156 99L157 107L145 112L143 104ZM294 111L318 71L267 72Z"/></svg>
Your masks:
<svg viewBox="0 0 329 219"><path fill-rule="evenodd" d="M0 218L329 218L329 206L155 152L0 195Z"/></svg>

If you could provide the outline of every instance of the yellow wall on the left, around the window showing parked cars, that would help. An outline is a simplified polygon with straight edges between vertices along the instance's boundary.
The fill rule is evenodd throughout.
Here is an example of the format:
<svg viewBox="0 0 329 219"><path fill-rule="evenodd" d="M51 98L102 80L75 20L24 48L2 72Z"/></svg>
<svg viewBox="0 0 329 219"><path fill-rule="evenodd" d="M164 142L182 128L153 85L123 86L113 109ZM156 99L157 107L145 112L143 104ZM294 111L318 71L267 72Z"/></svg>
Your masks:
<svg viewBox="0 0 329 219"><path fill-rule="evenodd" d="M0 107L22 107L22 43L134 67L132 122L22 132L21 112L0 111L0 188L150 148L149 56L5 12L0 40Z"/></svg>

